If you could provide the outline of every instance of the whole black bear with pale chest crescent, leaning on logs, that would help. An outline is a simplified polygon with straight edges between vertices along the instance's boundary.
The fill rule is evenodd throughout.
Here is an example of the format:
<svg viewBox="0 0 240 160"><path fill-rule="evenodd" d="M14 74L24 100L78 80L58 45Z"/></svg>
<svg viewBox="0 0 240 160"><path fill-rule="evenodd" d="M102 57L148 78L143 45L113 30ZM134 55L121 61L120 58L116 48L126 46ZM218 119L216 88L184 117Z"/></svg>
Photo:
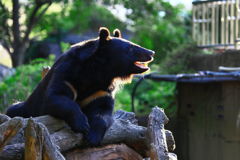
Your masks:
<svg viewBox="0 0 240 160"><path fill-rule="evenodd" d="M29 98L7 110L10 117L49 114L98 145L112 123L114 92L149 69L154 52L100 28L99 37L72 46L51 67Z"/></svg>

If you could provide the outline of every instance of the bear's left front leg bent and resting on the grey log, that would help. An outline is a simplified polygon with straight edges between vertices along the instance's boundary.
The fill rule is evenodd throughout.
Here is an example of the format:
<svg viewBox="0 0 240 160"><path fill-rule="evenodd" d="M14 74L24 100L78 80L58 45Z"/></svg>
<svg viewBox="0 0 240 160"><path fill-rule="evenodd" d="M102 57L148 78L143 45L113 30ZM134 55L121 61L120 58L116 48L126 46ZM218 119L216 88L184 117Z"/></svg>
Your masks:
<svg viewBox="0 0 240 160"><path fill-rule="evenodd" d="M46 101L45 114L65 120L74 132L86 135L89 131L87 117L81 111L80 106L66 96L51 96Z"/></svg>

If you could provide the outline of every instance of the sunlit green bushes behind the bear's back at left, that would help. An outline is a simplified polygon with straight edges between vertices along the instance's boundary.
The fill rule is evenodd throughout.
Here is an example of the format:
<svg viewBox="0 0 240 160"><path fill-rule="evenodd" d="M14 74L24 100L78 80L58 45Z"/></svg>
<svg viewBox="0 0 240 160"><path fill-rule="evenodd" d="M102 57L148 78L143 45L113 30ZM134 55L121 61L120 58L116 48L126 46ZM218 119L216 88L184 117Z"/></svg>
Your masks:
<svg viewBox="0 0 240 160"><path fill-rule="evenodd" d="M36 59L28 65L16 68L15 74L0 82L0 111L9 105L24 101L32 93L41 80L44 66L51 66L54 56L46 59Z"/></svg>

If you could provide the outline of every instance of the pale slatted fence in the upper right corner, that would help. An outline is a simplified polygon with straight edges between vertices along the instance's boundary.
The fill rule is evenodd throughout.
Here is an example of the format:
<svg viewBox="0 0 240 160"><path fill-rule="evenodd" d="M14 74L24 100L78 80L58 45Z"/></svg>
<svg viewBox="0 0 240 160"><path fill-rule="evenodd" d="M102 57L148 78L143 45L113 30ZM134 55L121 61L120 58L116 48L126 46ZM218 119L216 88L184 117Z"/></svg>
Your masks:
<svg viewBox="0 0 240 160"><path fill-rule="evenodd" d="M193 2L192 36L199 47L238 48L240 0Z"/></svg>

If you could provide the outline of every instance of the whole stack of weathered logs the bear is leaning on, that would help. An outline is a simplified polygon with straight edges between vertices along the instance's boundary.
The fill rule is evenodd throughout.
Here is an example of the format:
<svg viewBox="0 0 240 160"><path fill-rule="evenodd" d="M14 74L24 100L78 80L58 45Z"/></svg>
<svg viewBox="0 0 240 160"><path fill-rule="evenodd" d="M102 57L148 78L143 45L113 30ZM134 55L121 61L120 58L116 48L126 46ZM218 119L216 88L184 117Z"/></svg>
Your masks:
<svg viewBox="0 0 240 160"><path fill-rule="evenodd" d="M172 133L164 129L164 111L154 107L148 126L138 126L135 114L117 111L101 146L87 146L81 133L50 116L9 118L0 115L1 160L176 160ZM170 152L169 152L170 151Z"/></svg>

